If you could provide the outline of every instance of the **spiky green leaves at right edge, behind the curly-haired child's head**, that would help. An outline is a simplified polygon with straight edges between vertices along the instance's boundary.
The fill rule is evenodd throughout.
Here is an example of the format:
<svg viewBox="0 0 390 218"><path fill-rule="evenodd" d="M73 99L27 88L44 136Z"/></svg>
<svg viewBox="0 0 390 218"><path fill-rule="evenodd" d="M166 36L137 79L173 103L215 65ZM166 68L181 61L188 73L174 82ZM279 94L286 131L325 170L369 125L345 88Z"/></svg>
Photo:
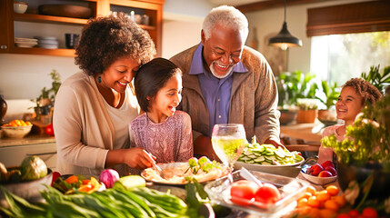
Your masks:
<svg viewBox="0 0 390 218"><path fill-rule="evenodd" d="M379 72L379 64L377 66L371 66L368 74L363 72L361 77L374 86L382 93L385 94L385 87L390 85L390 65L383 69L382 74Z"/></svg>

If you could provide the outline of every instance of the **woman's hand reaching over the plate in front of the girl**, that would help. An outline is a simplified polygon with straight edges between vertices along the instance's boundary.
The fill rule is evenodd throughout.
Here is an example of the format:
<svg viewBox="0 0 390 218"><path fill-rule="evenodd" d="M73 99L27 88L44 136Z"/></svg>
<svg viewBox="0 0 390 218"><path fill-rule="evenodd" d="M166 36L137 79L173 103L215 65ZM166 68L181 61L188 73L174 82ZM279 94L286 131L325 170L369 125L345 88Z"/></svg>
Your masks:
<svg viewBox="0 0 390 218"><path fill-rule="evenodd" d="M142 170L155 164L155 156L143 148L129 148L125 149L125 163L130 167Z"/></svg>

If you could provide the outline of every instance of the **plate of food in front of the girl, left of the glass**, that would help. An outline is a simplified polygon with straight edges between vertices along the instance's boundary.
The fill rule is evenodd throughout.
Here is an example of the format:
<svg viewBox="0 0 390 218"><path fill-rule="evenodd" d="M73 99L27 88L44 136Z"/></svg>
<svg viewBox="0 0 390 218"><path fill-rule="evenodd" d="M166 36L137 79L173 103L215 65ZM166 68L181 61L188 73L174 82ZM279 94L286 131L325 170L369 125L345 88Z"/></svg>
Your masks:
<svg viewBox="0 0 390 218"><path fill-rule="evenodd" d="M158 163L157 165L163 170L164 178L161 177L160 173L154 168L147 168L141 173L141 176L147 182L183 185L187 183L185 177L193 177L197 182L205 183L221 178L229 172L228 168L224 164L219 164L219 168L215 167L210 169L208 173L203 170L199 170L197 173L194 173L191 169L189 169L189 164L184 162Z"/></svg>

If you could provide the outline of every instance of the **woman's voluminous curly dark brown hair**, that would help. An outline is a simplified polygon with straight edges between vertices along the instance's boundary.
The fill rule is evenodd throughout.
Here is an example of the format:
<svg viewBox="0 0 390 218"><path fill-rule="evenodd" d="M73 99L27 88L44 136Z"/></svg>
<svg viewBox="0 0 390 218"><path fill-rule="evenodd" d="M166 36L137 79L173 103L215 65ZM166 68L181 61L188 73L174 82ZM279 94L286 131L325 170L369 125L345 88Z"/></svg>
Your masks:
<svg viewBox="0 0 390 218"><path fill-rule="evenodd" d="M85 74L99 75L119 58L145 64L155 55L150 35L124 15L90 19L75 48L75 64Z"/></svg>

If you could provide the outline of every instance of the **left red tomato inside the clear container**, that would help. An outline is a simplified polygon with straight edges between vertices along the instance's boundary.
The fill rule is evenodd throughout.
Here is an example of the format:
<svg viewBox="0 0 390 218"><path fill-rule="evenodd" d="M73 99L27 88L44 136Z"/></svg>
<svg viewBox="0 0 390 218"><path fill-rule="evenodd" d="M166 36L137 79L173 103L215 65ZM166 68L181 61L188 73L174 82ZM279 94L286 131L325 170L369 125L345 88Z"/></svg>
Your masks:
<svg viewBox="0 0 390 218"><path fill-rule="evenodd" d="M230 188L231 201L241 206L248 206L253 202L257 191L257 184L247 180L240 180Z"/></svg>

